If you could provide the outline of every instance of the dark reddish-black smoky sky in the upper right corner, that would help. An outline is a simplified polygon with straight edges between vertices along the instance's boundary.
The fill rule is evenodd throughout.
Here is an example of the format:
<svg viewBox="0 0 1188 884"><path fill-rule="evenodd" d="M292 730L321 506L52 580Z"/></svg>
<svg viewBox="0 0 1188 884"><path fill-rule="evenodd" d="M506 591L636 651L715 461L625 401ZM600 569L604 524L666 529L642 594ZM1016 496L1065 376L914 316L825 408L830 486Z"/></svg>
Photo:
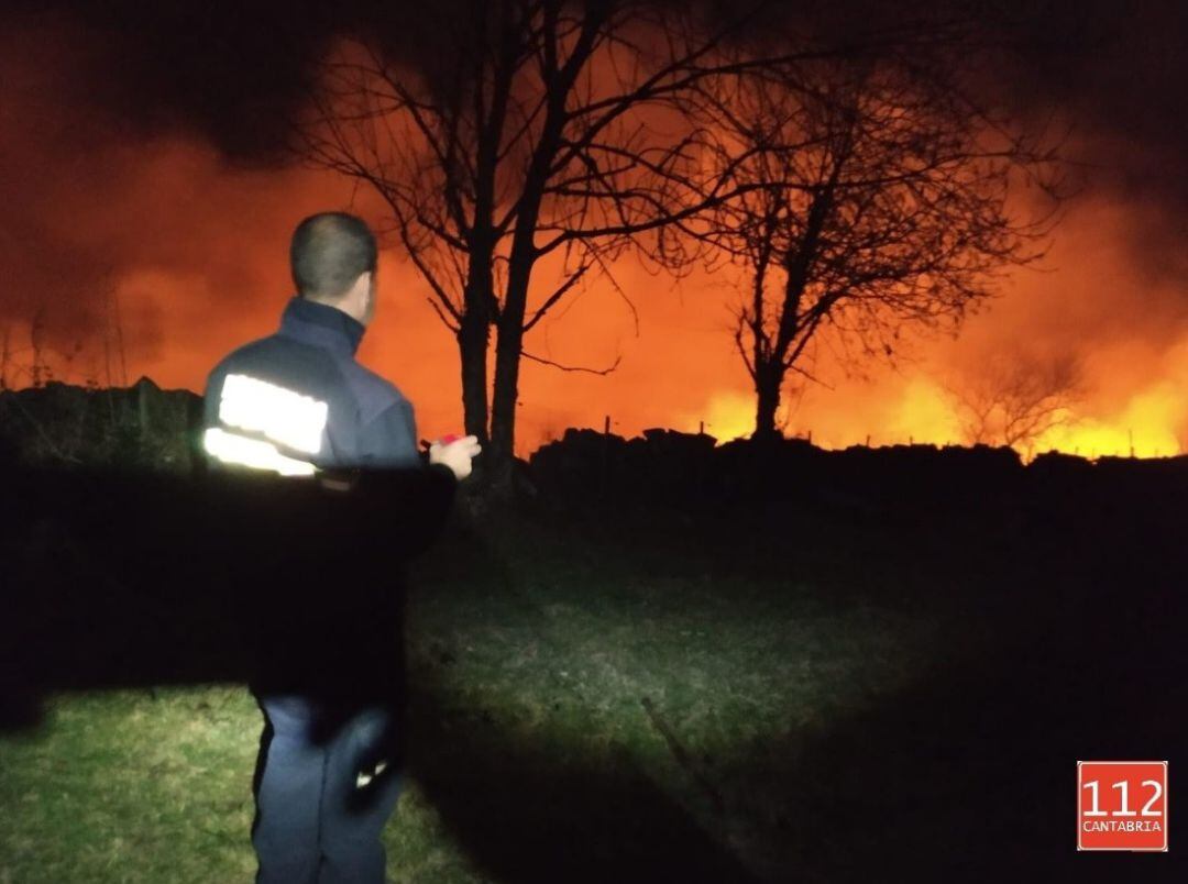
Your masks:
<svg viewBox="0 0 1188 884"><path fill-rule="evenodd" d="M1003 70L1023 110L1059 109L1086 185L1132 209L1135 267L1188 278L1188 5L1020 4L1013 63Z"/></svg>

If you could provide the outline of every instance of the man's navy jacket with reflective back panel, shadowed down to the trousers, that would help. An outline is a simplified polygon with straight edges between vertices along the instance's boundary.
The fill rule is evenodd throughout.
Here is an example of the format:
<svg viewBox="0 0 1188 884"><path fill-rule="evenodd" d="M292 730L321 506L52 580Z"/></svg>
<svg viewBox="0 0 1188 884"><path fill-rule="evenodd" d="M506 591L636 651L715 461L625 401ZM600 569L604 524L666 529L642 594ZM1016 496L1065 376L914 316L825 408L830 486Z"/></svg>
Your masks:
<svg viewBox="0 0 1188 884"><path fill-rule="evenodd" d="M362 334L295 297L276 334L207 381L214 522L258 693L355 700L403 686L402 566L438 533L457 480L418 452L412 404L355 361ZM343 471L348 492L304 475Z"/></svg>

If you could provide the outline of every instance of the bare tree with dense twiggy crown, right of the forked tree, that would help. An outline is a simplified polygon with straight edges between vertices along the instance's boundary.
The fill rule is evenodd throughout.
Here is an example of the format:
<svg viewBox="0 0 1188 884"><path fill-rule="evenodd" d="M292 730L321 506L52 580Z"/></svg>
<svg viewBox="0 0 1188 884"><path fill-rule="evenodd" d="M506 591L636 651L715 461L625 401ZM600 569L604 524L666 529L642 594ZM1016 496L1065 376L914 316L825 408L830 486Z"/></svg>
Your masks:
<svg viewBox="0 0 1188 884"><path fill-rule="evenodd" d="M810 342L843 364L855 349L893 359L902 329L956 328L1001 269L1042 254L1054 214L1017 220L1007 195L1023 173L1056 196L1054 152L921 61L963 45L942 33L911 52L699 83L719 168L740 187L687 229L748 280L734 341L757 437L777 435L789 371L815 380Z"/></svg>

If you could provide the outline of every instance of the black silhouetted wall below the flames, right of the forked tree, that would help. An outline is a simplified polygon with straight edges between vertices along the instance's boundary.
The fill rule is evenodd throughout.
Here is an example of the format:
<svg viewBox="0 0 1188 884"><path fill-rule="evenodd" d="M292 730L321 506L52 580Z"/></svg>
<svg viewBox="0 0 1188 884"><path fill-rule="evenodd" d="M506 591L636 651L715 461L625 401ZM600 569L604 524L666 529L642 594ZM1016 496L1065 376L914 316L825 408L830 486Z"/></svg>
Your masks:
<svg viewBox="0 0 1188 884"><path fill-rule="evenodd" d="M1188 491L1188 456L1095 462L1047 453L1024 465L1012 448L931 444L827 450L800 438L735 440L665 429L626 440L569 429L530 460L539 492L558 501L653 499L697 507L756 501L816 503L870 516L883 510L958 505L979 509L1015 494L1080 492L1154 495Z"/></svg>

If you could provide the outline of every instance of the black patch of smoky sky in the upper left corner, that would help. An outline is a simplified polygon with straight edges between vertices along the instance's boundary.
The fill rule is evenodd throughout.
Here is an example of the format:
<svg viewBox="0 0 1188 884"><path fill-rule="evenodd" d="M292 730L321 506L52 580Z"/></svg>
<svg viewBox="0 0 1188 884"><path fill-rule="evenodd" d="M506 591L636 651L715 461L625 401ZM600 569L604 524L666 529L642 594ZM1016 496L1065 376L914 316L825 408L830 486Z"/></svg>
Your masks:
<svg viewBox="0 0 1188 884"><path fill-rule="evenodd" d="M124 134L192 133L235 162L260 164L285 162L285 121L311 86L309 62L348 26L330 20L328 6L38 2L18 6L10 23L49 20L70 33L82 74L75 101Z"/></svg>

